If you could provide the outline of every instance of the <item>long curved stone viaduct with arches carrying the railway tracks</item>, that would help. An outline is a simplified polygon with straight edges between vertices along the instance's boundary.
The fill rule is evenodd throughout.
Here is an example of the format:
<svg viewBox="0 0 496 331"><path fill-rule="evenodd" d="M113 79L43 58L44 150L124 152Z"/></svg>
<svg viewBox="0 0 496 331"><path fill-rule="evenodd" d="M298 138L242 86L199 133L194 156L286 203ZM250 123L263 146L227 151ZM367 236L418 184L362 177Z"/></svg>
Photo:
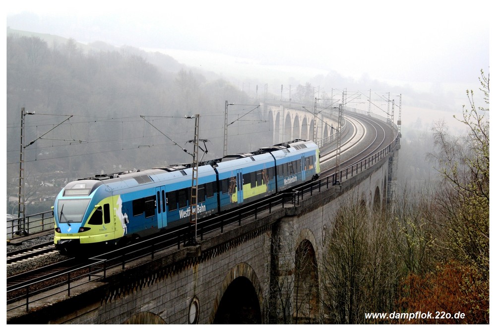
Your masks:
<svg viewBox="0 0 496 331"><path fill-rule="evenodd" d="M314 114L283 106L266 109L280 129L274 130L280 135L275 140L312 138ZM331 136L336 124L337 118L321 118L317 136ZM62 292L49 304L32 303L27 313L9 312L7 323L322 322L322 261L333 219L350 201L370 210L384 206L395 178L398 142L393 139L380 159L340 185L322 178L318 189L294 203L211 232L196 246L171 248L108 270L104 281L87 282L70 296Z"/></svg>

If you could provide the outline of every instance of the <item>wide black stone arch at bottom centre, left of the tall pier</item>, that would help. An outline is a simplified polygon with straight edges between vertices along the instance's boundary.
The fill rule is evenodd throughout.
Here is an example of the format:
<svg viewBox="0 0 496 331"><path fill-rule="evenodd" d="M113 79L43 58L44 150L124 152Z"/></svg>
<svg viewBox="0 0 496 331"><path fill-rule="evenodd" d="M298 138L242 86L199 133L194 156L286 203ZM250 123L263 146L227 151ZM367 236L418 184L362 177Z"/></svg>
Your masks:
<svg viewBox="0 0 496 331"><path fill-rule="evenodd" d="M210 324L261 324L261 302L263 294L255 270L239 263L226 274L217 291Z"/></svg>

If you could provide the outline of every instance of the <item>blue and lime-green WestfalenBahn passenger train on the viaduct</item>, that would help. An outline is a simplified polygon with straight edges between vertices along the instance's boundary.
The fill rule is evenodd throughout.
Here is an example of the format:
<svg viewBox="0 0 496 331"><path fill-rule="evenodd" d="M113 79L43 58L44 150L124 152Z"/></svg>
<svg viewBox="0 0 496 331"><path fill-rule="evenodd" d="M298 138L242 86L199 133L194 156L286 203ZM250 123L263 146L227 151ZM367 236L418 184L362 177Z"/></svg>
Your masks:
<svg viewBox="0 0 496 331"><path fill-rule="evenodd" d="M69 255L124 245L190 222L198 183L197 220L233 210L318 178L319 149L295 139L192 164L102 174L68 183L53 206L54 244Z"/></svg>

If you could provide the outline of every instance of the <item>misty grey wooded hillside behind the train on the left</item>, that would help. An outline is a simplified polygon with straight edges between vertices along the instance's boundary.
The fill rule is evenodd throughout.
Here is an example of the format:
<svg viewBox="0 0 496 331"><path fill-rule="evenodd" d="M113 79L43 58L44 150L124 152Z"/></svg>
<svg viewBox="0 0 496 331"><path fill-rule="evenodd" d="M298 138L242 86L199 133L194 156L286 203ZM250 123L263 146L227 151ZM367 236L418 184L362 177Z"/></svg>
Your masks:
<svg viewBox="0 0 496 331"><path fill-rule="evenodd" d="M200 138L209 140L205 159L222 156L226 100L234 104L230 122L251 111L247 121L229 128L231 146L247 152L271 141L258 100L230 82L212 73L207 79L167 55L101 42L89 46L83 51L72 39L49 45L39 37L7 36L7 196L15 196L18 186L24 108L34 113L24 125L26 201L52 200L36 210L28 204L28 213L49 210L70 180L191 162L183 148L192 150L187 140L195 123L185 116L200 114ZM16 201L10 200L7 212L14 214Z"/></svg>

